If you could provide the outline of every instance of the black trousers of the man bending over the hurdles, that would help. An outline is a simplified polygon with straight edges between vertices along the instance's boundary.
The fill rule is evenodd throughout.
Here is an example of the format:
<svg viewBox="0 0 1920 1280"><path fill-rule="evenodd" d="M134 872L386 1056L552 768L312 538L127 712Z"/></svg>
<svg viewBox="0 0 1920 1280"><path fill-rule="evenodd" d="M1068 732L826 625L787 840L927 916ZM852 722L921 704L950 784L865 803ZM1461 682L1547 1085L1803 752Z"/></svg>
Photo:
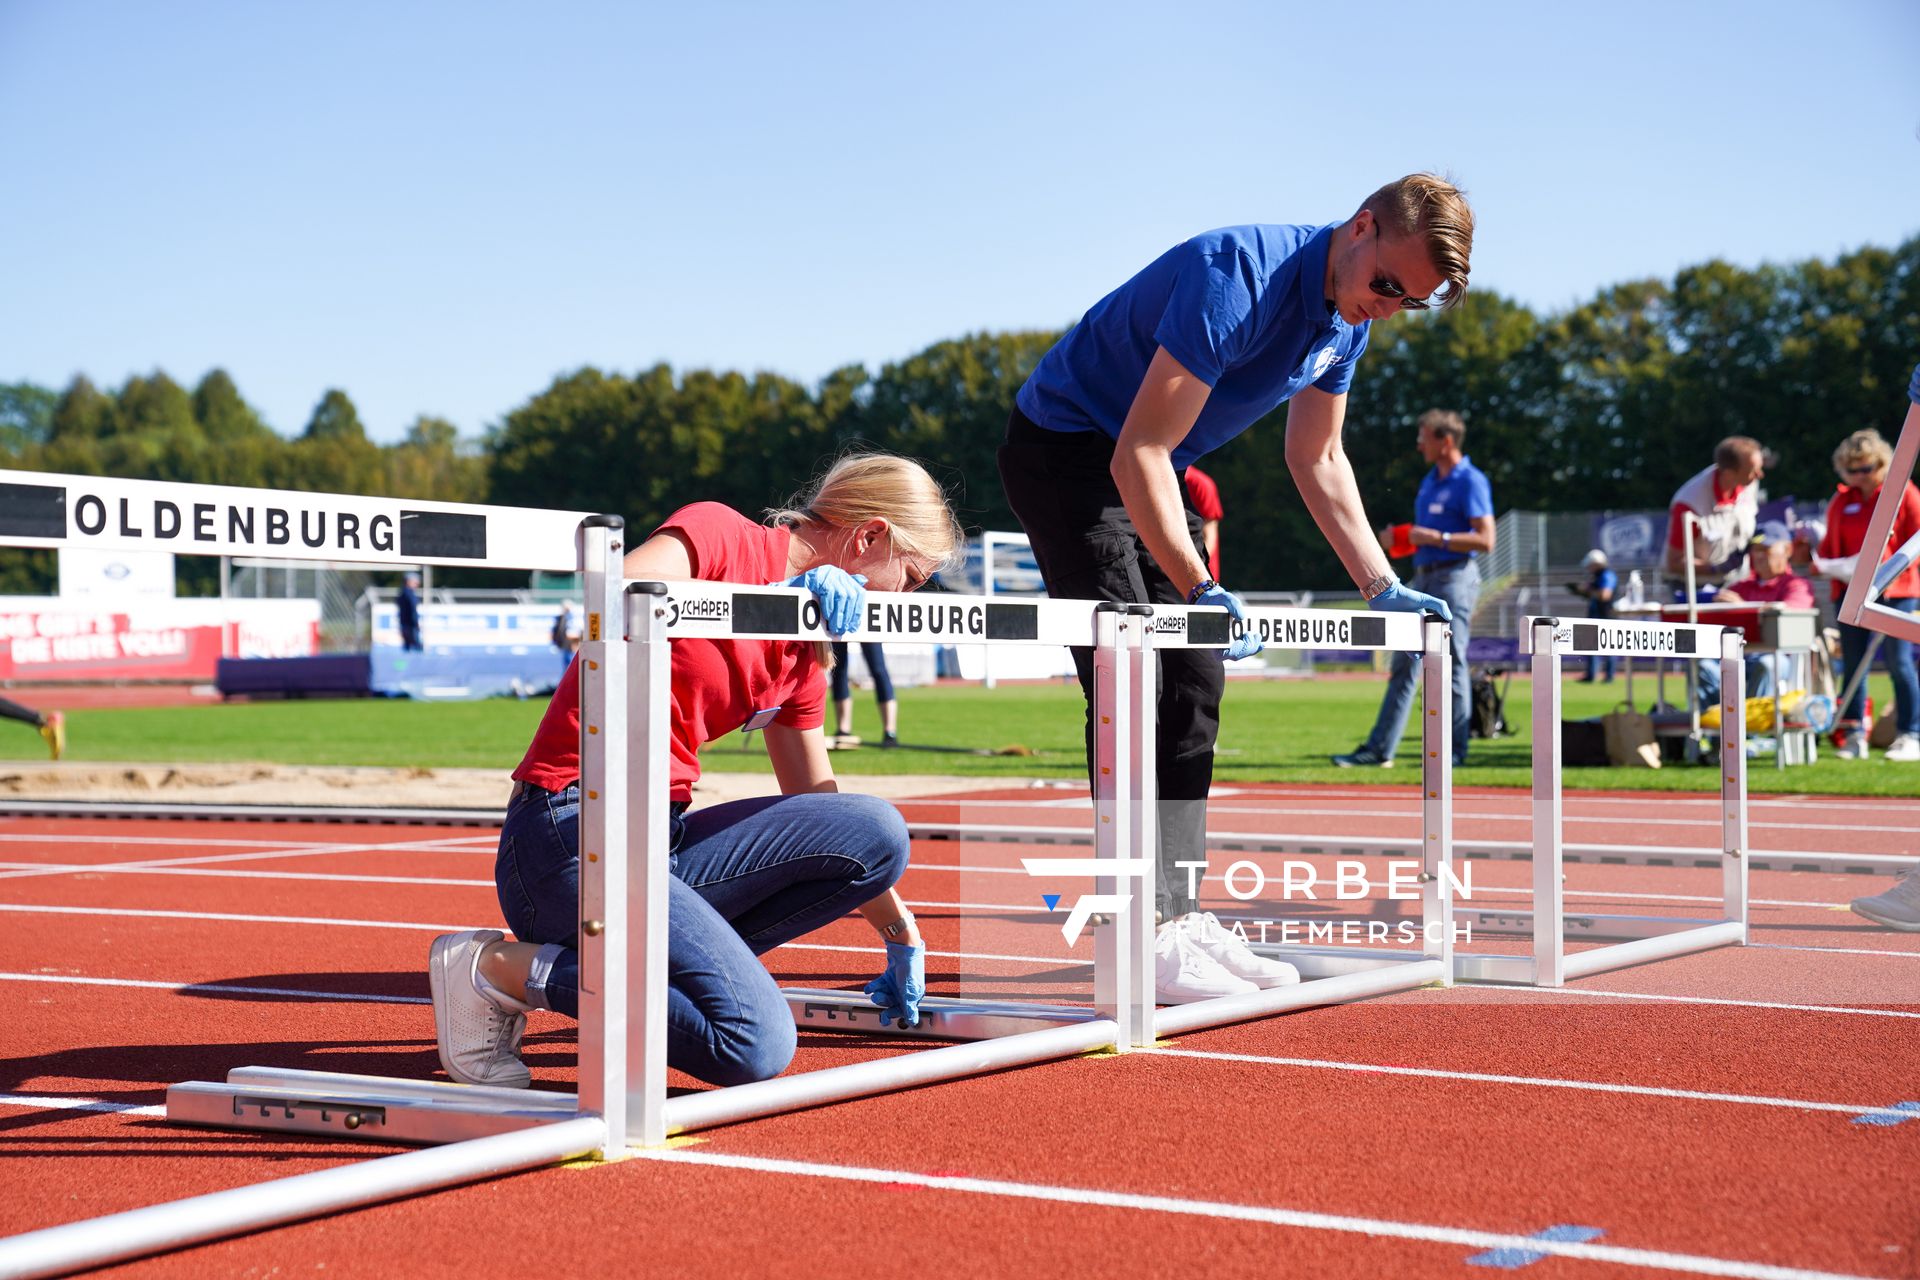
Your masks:
<svg viewBox="0 0 1920 1280"><path fill-rule="evenodd" d="M1000 484L1020 516L1046 593L1066 601L1185 604L1162 572L1114 486L1114 441L1100 432L1048 432L1018 409L1000 445ZM1185 493L1187 486L1181 486ZM1200 560L1200 514L1187 499L1187 533ZM1154 906L1165 919L1196 908L1188 871L1175 862L1206 858L1206 793L1213 785L1213 743L1227 670L1219 651L1169 649L1158 654L1154 741L1160 783L1160 877ZM1087 695L1087 768L1092 770L1092 649L1073 649Z"/></svg>

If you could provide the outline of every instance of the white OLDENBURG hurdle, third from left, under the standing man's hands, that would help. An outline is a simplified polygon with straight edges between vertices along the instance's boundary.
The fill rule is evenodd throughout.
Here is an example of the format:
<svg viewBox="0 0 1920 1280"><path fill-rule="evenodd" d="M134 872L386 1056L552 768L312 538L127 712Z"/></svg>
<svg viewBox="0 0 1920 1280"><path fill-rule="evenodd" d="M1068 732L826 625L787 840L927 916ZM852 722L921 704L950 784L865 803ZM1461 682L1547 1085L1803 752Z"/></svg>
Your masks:
<svg viewBox="0 0 1920 1280"><path fill-rule="evenodd" d="M1334 608L1248 608L1233 622L1221 608L1152 606L1152 649L1217 649L1252 631L1275 649L1379 649L1419 652L1421 716L1421 952L1363 946L1254 944L1263 956L1300 969L1302 983L1169 1006L1154 1013L1154 1034L1219 1027L1286 1009L1363 1000L1453 981L1453 631L1436 616L1369 614ZM1148 679L1135 691L1154 702ZM1154 796L1158 802L1158 796ZM1158 804L1150 804L1150 810ZM1154 846L1146 846L1154 856Z"/></svg>

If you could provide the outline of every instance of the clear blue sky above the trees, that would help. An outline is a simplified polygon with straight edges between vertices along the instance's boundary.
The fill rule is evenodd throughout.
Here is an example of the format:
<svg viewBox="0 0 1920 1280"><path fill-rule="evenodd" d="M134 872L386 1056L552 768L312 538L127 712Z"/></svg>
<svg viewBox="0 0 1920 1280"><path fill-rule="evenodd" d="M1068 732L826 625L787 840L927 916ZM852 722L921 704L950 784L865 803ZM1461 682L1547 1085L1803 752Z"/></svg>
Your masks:
<svg viewBox="0 0 1920 1280"><path fill-rule="evenodd" d="M0 382L474 436L580 365L1064 326L1413 169L1555 311L1920 230L1916 67L1914 0L0 0Z"/></svg>

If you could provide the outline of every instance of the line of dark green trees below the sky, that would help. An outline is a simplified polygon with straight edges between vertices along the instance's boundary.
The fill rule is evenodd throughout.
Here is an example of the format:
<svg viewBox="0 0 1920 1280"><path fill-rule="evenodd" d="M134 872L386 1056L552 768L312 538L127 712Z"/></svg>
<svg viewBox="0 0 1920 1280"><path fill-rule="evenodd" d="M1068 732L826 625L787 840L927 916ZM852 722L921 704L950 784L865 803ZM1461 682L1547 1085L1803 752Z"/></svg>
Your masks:
<svg viewBox="0 0 1920 1280"><path fill-rule="evenodd" d="M384 493L620 512L637 528L691 499L778 505L852 447L908 453L948 486L970 528L1018 528L995 468L1014 391L1056 332L970 334L877 372L814 386L772 372L580 368L480 439L422 416L394 445L367 439L346 391L305 430L265 426L225 370L192 390L163 372L104 391L0 384L0 466L123 478ZM1834 445L1891 430L1920 359L1920 236L1834 261L1757 269L1711 261L1670 282L1601 290L1538 315L1492 290L1373 328L1348 397L1346 451L1375 522L1405 520L1425 464L1413 422L1467 418L1467 451L1500 510L1665 507L1724 436L1778 455L1774 497L1836 482ZM1284 464L1284 409L1210 455L1227 509L1231 585L1342 589ZM209 587L188 570L184 589ZM8 553L0 591L42 593L52 558Z"/></svg>

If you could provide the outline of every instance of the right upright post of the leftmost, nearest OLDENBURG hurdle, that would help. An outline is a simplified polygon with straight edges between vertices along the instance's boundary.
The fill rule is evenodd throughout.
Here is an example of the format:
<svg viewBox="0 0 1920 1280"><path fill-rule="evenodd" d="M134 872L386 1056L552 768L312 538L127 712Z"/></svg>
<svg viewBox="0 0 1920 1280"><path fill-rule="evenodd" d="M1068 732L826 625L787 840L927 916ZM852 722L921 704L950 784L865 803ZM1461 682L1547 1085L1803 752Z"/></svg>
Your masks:
<svg viewBox="0 0 1920 1280"><path fill-rule="evenodd" d="M580 652L580 1109L607 1121L601 1159L626 1153L628 1054L628 672L620 516L580 522L586 620ZM645 794L645 789L643 793Z"/></svg>

